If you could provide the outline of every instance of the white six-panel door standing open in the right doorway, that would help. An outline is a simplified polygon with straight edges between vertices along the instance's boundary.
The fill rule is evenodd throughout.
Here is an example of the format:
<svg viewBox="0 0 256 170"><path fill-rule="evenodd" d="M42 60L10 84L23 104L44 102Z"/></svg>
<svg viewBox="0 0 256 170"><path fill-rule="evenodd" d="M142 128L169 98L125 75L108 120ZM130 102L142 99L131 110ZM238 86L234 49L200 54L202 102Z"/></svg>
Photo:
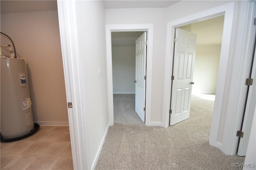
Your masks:
<svg viewBox="0 0 256 170"><path fill-rule="evenodd" d="M196 34L176 28L175 35L170 125L189 118L196 54Z"/></svg>

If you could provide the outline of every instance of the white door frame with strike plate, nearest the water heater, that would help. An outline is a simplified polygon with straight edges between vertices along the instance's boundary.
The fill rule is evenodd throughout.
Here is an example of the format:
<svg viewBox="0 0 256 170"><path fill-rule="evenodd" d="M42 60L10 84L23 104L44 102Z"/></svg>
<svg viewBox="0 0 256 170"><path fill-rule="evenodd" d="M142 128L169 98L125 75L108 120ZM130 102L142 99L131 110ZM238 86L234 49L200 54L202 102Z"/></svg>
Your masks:
<svg viewBox="0 0 256 170"><path fill-rule="evenodd" d="M58 19L60 27L60 42L62 50L63 70L66 88L66 101L72 102L68 108L68 122L74 169L91 169L88 159L88 128L85 105L82 101L83 91L81 77L84 77L78 48L79 36L76 30L76 2L57 0Z"/></svg>

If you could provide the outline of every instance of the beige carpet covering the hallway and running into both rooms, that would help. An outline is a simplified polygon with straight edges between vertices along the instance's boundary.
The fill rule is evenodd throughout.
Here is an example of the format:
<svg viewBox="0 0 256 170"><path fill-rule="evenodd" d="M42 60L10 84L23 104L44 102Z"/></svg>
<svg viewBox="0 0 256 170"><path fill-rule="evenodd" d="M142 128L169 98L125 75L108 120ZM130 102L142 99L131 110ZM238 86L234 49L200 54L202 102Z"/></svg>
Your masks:
<svg viewBox="0 0 256 170"><path fill-rule="evenodd" d="M226 155L208 143L213 104L192 96L190 119L168 128L146 127L134 112L134 95L114 95L115 123L96 169L242 169L230 164L242 163L244 157Z"/></svg>

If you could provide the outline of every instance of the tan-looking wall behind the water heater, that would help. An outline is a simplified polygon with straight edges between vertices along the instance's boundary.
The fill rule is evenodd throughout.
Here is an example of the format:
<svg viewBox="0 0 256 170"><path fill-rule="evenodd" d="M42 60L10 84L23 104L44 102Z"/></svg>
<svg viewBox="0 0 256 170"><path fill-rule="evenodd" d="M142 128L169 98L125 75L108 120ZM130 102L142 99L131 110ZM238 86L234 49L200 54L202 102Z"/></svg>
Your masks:
<svg viewBox="0 0 256 170"><path fill-rule="evenodd" d="M34 121L68 125L57 11L1 14L1 32L26 59ZM6 42L1 35L1 45Z"/></svg>

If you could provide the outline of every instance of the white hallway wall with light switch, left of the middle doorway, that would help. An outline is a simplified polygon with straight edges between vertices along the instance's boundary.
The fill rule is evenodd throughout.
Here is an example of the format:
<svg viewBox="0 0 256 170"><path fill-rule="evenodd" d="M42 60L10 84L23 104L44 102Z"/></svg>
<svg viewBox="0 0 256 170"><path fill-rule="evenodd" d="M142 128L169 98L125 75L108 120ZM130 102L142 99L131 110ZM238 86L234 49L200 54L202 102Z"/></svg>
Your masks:
<svg viewBox="0 0 256 170"><path fill-rule="evenodd" d="M76 1L88 169L96 166L108 129L105 10L101 1ZM101 68L101 75L98 73ZM80 114L80 113L78 113Z"/></svg>

